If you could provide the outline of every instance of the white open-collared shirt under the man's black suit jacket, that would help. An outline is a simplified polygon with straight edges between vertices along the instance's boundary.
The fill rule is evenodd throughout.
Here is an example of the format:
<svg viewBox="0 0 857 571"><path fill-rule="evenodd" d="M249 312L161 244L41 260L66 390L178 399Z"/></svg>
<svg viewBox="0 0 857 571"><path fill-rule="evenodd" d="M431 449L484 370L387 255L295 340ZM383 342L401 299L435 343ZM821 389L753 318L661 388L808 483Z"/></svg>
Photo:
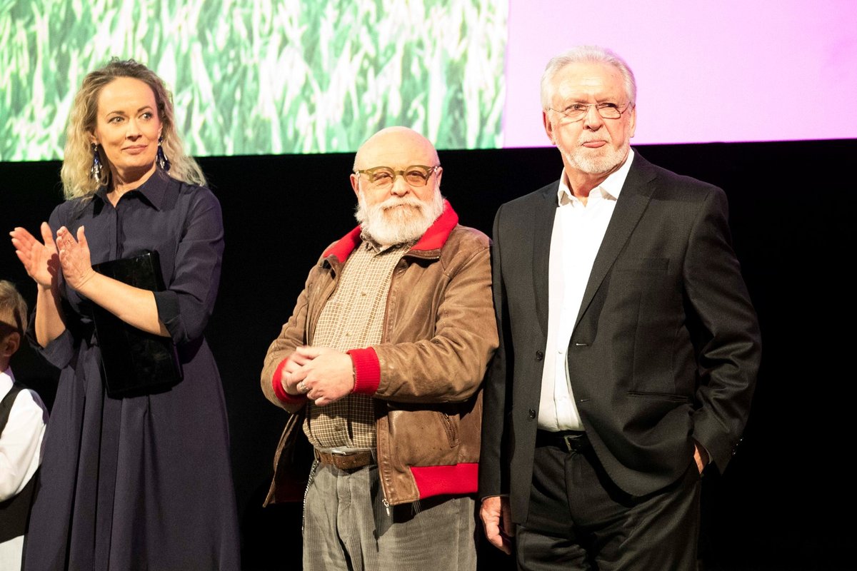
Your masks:
<svg viewBox="0 0 857 571"><path fill-rule="evenodd" d="M562 171L557 191L559 206L550 238L548 344L538 413L538 427L542 430L584 430L568 378L568 345L592 264L633 158L634 152L629 151L625 164L592 189L585 205L572 194L566 171Z"/></svg>

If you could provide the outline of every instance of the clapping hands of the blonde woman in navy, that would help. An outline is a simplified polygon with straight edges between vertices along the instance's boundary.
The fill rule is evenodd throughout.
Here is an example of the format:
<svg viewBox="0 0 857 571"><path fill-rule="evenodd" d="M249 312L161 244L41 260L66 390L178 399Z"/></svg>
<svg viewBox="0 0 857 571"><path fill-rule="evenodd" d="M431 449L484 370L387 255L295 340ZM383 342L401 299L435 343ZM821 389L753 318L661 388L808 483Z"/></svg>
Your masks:
<svg viewBox="0 0 857 571"><path fill-rule="evenodd" d="M48 223L43 222L39 230L41 242L23 228L15 228L9 233L15 254L27 270L27 275L40 287L53 288L57 284L58 270L62 267L66 283L80 291L95 276L83 227L77 229L76 240L65 226L57 230L57 241L54 241Z"/></svg>

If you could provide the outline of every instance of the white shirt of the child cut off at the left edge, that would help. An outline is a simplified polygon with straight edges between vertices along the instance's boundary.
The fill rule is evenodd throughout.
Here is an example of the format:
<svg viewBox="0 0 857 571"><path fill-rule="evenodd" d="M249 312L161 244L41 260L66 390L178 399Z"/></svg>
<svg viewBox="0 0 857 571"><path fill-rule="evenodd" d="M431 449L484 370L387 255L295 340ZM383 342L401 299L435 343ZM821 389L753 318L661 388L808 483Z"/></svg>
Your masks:
<svg viewBox="0 0 857 571"><path fill-rule="evenodd" d="M0 399L3 399L15 377L12 368L0 372ZM9 411L9 421L0 433L0 502L14 497L42 461L42 437L48 412L33 390L21 390ZM20 569L24 536L0 543L0 569Z"/></svg>

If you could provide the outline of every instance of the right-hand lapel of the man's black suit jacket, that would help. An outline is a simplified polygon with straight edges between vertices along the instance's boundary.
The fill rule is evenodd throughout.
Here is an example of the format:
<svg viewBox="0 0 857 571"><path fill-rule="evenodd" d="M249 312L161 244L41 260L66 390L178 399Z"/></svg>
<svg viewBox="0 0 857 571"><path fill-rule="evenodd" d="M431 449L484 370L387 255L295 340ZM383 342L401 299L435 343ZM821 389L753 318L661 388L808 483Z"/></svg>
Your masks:
<svg viewBox="0 0 857 571"><path fill-rule="evenodd" d="M649 205L655 188L655 173L650 169L650 163L642 158L635 149L631 169L628 170L622 192L616 201L613 216L610 217L610 223L604 233L601 247L598 249L595 262L592 264L592 271L584 291L584 299L580 303L578 318L574 323L575 327L580 323L580 318L589 308L592 298L604 281L604 277L607 277L610 268L622 248L625 247L634 228L637 227L637 223L643 216L646 206Z"/></svg>

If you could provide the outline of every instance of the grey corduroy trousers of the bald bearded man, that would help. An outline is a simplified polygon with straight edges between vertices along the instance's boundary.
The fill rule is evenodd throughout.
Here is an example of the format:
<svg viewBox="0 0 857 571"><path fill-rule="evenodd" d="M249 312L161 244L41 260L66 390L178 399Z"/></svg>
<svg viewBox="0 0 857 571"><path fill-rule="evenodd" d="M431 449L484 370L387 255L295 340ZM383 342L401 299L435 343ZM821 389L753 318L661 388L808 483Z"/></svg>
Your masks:
<svg viewBox="0 0 857 571"><path fill-rule="evenodd" d="M319 464L303 504L303 571L475 571L472 497L385 506L378 467Z"/></svg>

